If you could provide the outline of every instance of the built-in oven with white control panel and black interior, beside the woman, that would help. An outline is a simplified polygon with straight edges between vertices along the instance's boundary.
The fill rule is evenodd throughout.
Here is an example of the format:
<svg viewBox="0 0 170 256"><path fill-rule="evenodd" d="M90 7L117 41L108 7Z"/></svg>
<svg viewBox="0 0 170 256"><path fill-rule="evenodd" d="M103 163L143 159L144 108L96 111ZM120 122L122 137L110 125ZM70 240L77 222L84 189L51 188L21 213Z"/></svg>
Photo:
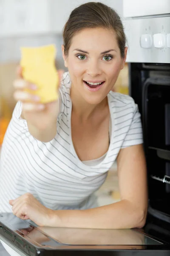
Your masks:
<svg viewBox="0 0 170 256"><path fill-rule="evenodd" d="M129 94L141 113L147 161L143 230L170 244L170 1L124 2ZM128 2L134 4L129 11Z"/></svg>

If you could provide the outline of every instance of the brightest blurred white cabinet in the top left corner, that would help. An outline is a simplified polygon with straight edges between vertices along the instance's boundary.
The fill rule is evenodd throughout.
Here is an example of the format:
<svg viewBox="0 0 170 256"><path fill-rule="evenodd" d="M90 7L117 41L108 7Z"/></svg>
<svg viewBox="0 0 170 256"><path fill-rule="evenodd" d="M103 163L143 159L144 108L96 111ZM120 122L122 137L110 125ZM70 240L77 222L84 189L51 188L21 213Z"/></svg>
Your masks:
<svg viewBox="0 0 170 256"><path fill-rule="evenodd" d="M48 0L0 0L0 37L47 32Z"/></svg>

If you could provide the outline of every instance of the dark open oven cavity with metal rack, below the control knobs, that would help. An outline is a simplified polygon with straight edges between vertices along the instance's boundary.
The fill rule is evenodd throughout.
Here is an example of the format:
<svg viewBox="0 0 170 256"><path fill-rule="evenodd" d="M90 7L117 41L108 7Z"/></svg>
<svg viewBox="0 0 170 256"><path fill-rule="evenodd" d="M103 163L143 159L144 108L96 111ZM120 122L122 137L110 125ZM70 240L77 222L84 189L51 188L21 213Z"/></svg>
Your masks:
<svg viewBox="0 0 170 256"><path fill-rule="evenodd" d="M130 95L142 115L148 212L170 223L170 64L130 65Z"/></svg>

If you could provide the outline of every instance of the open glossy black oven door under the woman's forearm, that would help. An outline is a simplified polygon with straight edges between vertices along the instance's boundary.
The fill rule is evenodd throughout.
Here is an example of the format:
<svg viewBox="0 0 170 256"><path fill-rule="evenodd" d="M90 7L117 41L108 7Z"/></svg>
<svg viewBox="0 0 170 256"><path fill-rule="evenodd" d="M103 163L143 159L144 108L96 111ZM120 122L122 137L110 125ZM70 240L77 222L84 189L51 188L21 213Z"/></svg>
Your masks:
<svg viewBox="0 0 170 256"><path fill-rule="evenodd" d="M17 252L21 256L169 256L170 224L148 215L142 229L38 227L32 221L23 221L11 213L2 213L0 240L6 249L10 247L14 250L12 253L10 249L11 255ZM6 256L4 250L0 255Z"/></svg>

